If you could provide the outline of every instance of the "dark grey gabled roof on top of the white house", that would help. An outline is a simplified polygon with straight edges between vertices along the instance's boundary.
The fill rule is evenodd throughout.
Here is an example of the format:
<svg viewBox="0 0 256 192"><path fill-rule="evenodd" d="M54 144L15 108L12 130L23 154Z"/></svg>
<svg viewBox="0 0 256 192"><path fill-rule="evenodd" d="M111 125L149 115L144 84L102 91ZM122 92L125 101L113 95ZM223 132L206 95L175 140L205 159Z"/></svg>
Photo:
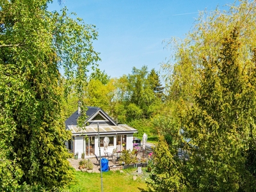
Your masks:
<svg viewBox="0 0 256 192"><path fill-rule="evenodd" d="M92 120L92 118L97 115L97 113L100 111L104 116L106 116L106 118L108 118L111 122L113 122L114 125L117 125L116 122L110 117L108 116L108 114L103 111L101 108L97 108L97 107L87 107L88 110L86 111L86 116L88 116L86 122L88 120ZM73 113L66 121L65 121L65 125L66 127L68 125L77 125L77 118L79 117L78 114L78 110Z"/></svg>

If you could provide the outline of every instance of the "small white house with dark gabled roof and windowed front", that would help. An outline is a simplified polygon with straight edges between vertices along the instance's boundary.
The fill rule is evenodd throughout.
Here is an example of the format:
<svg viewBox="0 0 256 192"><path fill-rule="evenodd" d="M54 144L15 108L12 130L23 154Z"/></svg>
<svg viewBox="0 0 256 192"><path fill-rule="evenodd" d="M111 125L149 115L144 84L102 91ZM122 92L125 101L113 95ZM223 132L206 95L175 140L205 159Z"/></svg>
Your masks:
<svg viewBox="0 0 256 192"><path fill-rule="evenodd" d="M113 149L122 151L132 150L133 134L138 132L136 129L125 124L116 124L116 122L108 116L101 108L87 107L86 115L88 118L84 122L85 127L77 126L77 118L79 117L79 109L73 113L66 121L66 129L72 132L72 140L66 142L66 147L74 154L78 153L78 158L84 153L87 157L104 156L104 152L113 152ZM99 135L98 139L98 127ZM104 148L104 138L108 137L108 147Z"/></svg>

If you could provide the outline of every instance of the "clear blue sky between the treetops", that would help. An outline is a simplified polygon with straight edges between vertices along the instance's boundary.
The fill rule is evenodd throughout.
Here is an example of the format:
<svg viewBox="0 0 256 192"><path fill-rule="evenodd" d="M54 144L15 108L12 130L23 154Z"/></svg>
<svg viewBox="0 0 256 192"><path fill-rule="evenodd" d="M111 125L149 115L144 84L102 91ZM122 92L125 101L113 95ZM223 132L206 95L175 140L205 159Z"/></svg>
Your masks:
<svg viewBox="0 0 256 192"><path fill-rule="evenodd" d="M166 42L173 36L184 38L193 27L198 12L227 9L233 0L57 0L49 10L67 6L86 24L95 24L99 32L93 42L100 52L99 66L111 77L131 74L132 67L148 66L159 70L170 57Z"/></svg>

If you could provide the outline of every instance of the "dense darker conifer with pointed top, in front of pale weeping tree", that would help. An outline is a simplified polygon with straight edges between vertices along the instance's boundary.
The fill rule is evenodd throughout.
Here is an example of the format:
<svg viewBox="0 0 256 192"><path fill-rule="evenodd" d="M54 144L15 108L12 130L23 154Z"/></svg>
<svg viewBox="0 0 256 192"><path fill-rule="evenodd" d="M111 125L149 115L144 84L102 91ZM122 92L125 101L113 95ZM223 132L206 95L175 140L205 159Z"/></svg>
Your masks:
<svg viewBox="0 0 256 192"><path fill-rule="evenodd" d="M244 71L238 60L239 33L234 28L223 39L218 60L205 60L195 105L183 118L184 135L198 146L190 150L188 164L201 166L194 173L198 183L191 183L202 191L250 191L253 188L247 185L255 186L256 182L254 173L248 171L256 161L246 166L250 157L246 150L254 132L255 68Z"/></svg>

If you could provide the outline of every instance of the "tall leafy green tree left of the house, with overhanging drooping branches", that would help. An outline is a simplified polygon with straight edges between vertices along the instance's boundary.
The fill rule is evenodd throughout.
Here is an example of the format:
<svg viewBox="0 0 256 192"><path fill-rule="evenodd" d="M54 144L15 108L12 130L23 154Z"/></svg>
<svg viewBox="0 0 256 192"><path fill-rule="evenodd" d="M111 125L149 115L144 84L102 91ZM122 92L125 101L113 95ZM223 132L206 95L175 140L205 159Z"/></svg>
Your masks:
<svg viewBox="0 0 256 192"><path fill-rule="evenodd" d="M64 141L63 88L81 97L88 65L99 60L97 32L49 1L0 1L0 186L57 190L72 178ZM59 69L64 68L66 81ZM76 81L75 81L76 80Z"/></svg>

